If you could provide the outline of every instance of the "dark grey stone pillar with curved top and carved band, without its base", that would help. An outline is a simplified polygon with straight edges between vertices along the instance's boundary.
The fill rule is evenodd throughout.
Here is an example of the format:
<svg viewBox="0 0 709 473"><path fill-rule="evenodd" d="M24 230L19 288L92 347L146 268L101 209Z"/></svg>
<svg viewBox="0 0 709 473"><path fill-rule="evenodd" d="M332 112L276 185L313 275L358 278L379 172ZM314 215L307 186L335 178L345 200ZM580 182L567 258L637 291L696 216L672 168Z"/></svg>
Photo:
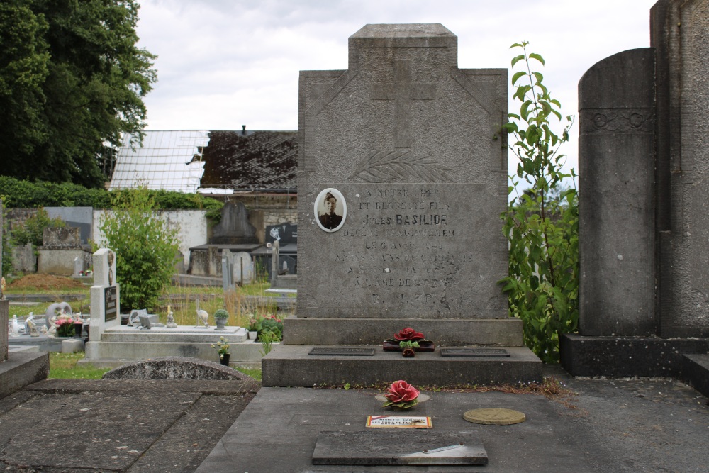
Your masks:
<svg viewBox="0 0 709 473"><path fill-rule="evenodd" d="M654 50L579 82L579 330L655 333Z"/></svg>

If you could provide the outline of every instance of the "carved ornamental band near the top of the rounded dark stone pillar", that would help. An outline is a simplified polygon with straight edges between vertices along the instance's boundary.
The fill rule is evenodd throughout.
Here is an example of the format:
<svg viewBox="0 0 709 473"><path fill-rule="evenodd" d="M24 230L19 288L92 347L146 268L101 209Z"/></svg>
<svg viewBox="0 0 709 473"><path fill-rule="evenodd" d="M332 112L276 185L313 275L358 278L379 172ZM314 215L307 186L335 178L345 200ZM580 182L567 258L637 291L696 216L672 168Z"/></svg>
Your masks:
<svg viewBox="0 0 709 473"><path fill-rule="evenodd" d="M591 108L581 111L581 133L653 133L652 108Z"/></svg>

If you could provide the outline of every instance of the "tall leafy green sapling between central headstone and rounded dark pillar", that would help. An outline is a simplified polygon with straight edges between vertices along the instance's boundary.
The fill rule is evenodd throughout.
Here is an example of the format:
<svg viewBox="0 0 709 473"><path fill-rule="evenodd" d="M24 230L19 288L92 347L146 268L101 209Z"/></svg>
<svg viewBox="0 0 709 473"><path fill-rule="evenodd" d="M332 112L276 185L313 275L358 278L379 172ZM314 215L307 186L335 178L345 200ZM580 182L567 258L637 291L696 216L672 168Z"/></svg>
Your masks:
<svg viewBox="0 0 709 473"><path fill-rule="evenodd" d="M551 120L562 121L561 104L552 99L541 72L542 56L527 54L527 43L515 44L522 54L512 60L515 72L513 98L520 113L510 113L506 124L510 149L518 157L517 173L510 176L510 194L522 179L531 185L518 194L503 213L504 231L510 241L510 274L503 279L510 312L524 321L525 343L545 362L559 360L559 335L576 330L579 321L579 207L575 187L564 188L565 156L559 146L569 138L573 119L560 135Z"/></svg>

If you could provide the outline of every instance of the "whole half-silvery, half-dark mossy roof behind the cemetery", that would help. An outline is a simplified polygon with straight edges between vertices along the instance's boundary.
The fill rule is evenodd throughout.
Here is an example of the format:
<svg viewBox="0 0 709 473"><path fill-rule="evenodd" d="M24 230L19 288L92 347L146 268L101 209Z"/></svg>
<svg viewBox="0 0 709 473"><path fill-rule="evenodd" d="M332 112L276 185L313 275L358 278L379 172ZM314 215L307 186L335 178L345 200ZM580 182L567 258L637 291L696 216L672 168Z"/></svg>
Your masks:
<svg viewBox="0 0 709 473"><path fill-rule="evenodd" d="M145 131L143 146L125 135L109 189L135 187L214 193L294 191L296 131Z"/></svg>

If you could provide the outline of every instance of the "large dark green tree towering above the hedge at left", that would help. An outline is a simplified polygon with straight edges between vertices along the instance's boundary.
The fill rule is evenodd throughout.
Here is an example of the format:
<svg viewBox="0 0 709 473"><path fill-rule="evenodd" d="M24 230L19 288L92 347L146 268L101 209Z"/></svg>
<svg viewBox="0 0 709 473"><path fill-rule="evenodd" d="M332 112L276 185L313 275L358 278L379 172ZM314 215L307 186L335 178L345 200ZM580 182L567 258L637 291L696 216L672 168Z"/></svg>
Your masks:
<svg viewBox="0 0 709 473"><path fill-rule="evenodd" d="M145 125L155 56L138 1L0 4L0 174L100 187L121 133Z"/></svg>

